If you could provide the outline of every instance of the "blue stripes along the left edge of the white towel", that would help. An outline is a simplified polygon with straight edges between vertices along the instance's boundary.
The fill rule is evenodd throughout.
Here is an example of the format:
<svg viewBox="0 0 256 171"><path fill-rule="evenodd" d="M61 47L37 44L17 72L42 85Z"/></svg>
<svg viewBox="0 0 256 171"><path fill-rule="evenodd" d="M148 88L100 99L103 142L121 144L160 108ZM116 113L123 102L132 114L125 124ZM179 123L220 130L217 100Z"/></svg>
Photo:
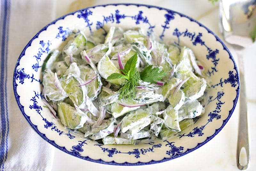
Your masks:
<svg viewBox="0 0 256 171"><path fill-rule="evenodd" d="M8 111L7 111L7 50L8 50L8 31L10 19L10 1L1 0L0 14L0 170L4 169L4 162L8 152Z"/></svg>

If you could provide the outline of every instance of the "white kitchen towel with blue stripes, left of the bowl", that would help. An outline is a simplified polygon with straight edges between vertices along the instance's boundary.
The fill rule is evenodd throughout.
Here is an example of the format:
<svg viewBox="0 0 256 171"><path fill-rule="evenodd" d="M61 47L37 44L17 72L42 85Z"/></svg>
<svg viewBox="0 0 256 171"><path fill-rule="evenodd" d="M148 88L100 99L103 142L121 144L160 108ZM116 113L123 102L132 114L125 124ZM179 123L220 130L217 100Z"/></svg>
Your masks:
<svg viewBox="0 0 256 171"><path fill-rule="evenodd" d="M0 170L52 170L54 147L44 141L21 114L12 78L23 48L54 17L54 0L1 0Z"/></svg>

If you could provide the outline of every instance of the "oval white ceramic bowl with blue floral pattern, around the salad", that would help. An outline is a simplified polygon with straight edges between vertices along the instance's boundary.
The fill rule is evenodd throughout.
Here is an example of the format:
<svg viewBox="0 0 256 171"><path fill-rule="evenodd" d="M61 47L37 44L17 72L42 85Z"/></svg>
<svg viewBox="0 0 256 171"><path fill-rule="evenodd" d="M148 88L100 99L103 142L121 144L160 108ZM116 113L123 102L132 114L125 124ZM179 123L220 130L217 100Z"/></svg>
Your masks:
<svg viewBox="0 0 256 171"><path fill-rule="evenodd" d="M102 145L87 140L56 120L44 107L41 66L74 30L87 35L110 26L143 27L156 40L191 48L211 78L209 104L191 128L175 137L149 144ZM13 75L13 89L28 123L45 141L81 159L111 165L164 162L192 152L216 136L231 117L239 94L233 57L221 40L194 19L179 12L141 4L108 4L67 14L40 30L26 45ZM214 141L214 140L213 140Z"/></svg>

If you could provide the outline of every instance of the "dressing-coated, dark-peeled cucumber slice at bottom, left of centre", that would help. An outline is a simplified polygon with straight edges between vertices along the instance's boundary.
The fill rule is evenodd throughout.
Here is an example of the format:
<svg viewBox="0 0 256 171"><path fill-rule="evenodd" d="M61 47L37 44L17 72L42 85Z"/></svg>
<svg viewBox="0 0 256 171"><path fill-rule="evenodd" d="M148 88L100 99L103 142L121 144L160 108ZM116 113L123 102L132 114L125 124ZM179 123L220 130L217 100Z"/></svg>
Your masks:
<svg viewBox="0 0 256 171"><path fill-rule="evenodd" d="M110 118L109 120L103 120L102 123L87 131L84 136L89 137L92 140L98 140L114 132L116 126L116 119Z"/></svg>

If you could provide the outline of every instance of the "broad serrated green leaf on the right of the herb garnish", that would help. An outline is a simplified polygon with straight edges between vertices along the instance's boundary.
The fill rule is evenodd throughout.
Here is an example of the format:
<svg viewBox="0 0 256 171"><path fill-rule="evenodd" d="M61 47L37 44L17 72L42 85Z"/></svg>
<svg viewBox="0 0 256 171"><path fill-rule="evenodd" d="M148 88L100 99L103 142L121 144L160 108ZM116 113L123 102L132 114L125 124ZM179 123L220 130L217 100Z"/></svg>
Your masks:
<svg viewBox="0 0 256 171"><path fill-rule="evenodd" d="M160 67L148 65L140 74L140 79L144 82L156 83L156 81L160 81L165 75L166 72L161 71Z"/></svg>

